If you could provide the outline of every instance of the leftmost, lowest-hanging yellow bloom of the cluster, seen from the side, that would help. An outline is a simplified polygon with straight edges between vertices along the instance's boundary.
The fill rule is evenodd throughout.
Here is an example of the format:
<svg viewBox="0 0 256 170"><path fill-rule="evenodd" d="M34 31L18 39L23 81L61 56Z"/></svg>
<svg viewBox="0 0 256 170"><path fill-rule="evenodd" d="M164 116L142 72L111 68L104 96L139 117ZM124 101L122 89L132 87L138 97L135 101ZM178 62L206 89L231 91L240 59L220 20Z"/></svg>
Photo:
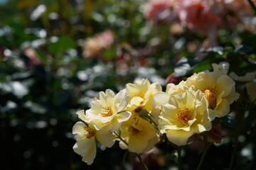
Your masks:
<svg viewBox="0 0 256 170"><path fill-rule="evenodd" d="M92 164L96 156L96 142L97 139L105 147L112 147L114 145L115 136L110 133L110 126L106 126L101 130L95 130L91 125L78 122L73 126L73 135L76 135L77 142L73 150L75 153L82 156L82 161L88 165Z"/></svg>

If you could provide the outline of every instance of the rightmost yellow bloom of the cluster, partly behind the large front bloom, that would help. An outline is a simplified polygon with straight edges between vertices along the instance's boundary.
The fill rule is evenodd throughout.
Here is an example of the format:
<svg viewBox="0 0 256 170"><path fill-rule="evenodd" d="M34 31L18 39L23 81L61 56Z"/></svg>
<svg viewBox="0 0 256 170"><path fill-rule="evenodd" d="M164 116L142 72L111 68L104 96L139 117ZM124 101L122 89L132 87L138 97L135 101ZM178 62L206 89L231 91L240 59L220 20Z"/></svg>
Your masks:
<svg viewBox="0 0 256 170"><path fill-rule="evenodd" d="M186 80L186 86L195 86L202 91L209 101L217 117L223 117L230 112L230 104L238 100L235 93L235 81L226 75L228 64L213 64L213 72L199 72Z"/></svg>

